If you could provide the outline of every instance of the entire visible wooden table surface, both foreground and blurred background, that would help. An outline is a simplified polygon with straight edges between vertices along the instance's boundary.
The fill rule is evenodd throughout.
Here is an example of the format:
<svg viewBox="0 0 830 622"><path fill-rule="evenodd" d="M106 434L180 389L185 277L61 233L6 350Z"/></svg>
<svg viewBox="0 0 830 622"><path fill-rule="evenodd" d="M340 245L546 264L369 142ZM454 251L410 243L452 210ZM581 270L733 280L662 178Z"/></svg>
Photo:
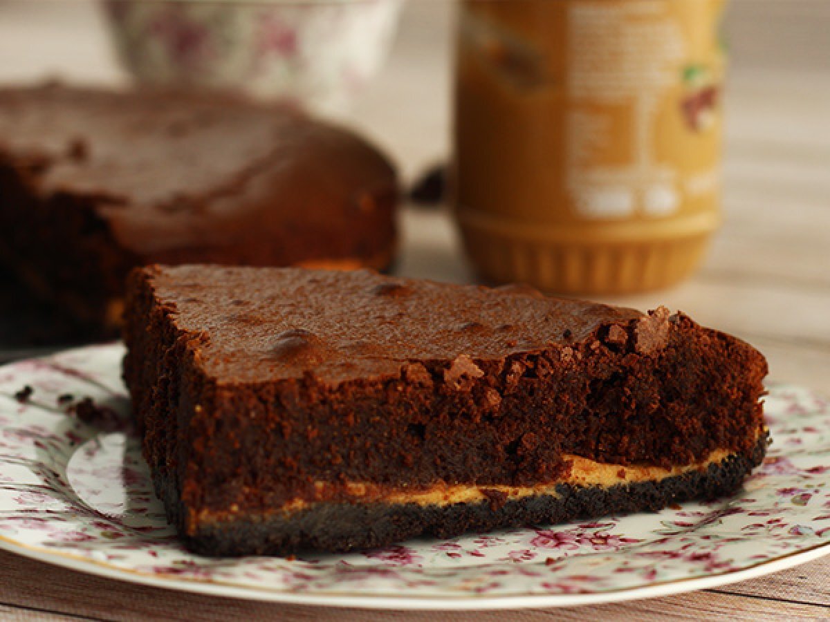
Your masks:
<svg viewBox="0 0 830 622"><path fill-rule="evenodd" d="M47 9L42 7L48 6ZM412 178L447 158L451 11L415 0L392 60L349 120ZM735 0L726 100L725 225L686 284L608 299L666 304L735 333L769 358L771 381L830 393L830 2ZM0 0L0 80L120 79L86 3ZM472 278L442 211L403 216L406 275ZM641 620L830 618L830 557L715 590L555 610L421 613L267 605L134 586L0 552L0 619Z"/></svg>

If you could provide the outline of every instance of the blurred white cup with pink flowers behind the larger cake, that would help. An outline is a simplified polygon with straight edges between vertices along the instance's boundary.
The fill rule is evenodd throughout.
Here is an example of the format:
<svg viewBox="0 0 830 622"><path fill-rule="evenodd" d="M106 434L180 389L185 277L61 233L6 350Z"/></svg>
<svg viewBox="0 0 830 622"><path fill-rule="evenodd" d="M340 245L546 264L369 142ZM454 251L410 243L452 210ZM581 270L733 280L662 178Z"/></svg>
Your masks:
<svg viewBox="0 0 830 622"><path fill-rule="evenodd" d="M238 90L338 112L378 72L403 0L106 0L141 84Z"/></svg>

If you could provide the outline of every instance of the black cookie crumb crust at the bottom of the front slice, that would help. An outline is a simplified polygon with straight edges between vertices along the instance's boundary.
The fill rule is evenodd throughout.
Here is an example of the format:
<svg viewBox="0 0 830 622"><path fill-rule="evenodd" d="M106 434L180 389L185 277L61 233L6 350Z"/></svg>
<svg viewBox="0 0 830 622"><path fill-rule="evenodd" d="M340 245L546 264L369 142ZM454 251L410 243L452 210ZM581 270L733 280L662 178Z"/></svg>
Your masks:
<svg viewBox="0 0 830 622"><path fill-rule="evenodd" d="M447 506L401 503L318 503L290 516L266 520L240 517L232 522L200 522L195 536L183 537L192 552L206 556L287 555L296 552L349 552L384 547L408 538L454 537L511 527L555 524L578 519L657 512L671 503L713 499L738 490L749 472L764 459L763 435L751 455L733 454L706 469L692 470L660 481L618 484L603 488L560 484L557 495L534 495L500 503ZM156 480L159 496L172 491ZM181 529L181 506L168 518Z"/></svg>

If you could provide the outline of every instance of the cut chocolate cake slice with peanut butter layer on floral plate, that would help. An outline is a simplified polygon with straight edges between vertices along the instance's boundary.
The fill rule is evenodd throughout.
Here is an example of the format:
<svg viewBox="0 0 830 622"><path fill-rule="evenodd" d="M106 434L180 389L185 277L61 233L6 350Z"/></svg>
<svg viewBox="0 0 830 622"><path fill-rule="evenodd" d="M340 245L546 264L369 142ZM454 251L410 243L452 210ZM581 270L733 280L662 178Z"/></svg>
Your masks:
<svg viewBox="0 0 830 622"><path fill-rule="evenodd" d="M368 270L150 266L125 379L194 551L376 547L657 510L764 456L764 357L665 308Z"/></svg>

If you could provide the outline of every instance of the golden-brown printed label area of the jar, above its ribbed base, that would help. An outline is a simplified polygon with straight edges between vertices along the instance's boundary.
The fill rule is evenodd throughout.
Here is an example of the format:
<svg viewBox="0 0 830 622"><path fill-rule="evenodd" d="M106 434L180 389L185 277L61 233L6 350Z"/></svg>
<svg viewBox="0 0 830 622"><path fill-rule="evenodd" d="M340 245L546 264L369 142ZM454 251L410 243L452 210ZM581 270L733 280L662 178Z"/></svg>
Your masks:
<svg viewBox="0 0 830 622"><path fill-rule="evenodd" d="M503 218L505 226L703 212L714 222L723 6L466 0L456 92L459 211Z"/></svg>

